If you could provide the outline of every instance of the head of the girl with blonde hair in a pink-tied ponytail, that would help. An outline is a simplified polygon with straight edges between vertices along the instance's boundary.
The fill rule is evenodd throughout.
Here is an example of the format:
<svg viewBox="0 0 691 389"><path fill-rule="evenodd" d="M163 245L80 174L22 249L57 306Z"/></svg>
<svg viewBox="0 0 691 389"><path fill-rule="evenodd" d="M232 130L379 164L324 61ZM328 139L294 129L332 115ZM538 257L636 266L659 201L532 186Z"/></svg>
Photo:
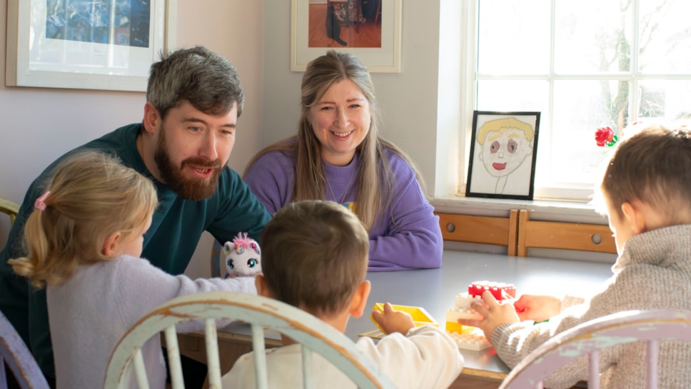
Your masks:
<svg viewBox="0 0 691 389"><path fill-rule="evenodd" d="M141 241L158 204L151 181L96 152L65 161L49 189L24 227L29 254L9 261L36 289L60 286L79 265L107 261L114 246Z"/></svg>

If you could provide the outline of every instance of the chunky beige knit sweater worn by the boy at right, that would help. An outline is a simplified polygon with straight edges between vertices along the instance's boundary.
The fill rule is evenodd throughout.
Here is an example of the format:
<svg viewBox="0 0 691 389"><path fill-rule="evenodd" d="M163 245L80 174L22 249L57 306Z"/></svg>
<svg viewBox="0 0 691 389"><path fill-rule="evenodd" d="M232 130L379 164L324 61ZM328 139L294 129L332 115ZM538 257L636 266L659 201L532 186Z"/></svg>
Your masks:
<svg viewBox="0 0 691 389"><path fill-rule="evenodd" d="M515 367L539 345L576 325L623 310L677 308L691 310L691 225L659 228L633 236L612 266L612 277L584 303L563 310L547 323L501 325L491 335L499 357ZM630 343L600 352L603 389L645 385L645 345ZM586 357L587 358L587 357ZM691 388L691 342L660 342L660 389ZM580 358L550 375L545 388L570 388L587 379L587 360Z"/></svg>

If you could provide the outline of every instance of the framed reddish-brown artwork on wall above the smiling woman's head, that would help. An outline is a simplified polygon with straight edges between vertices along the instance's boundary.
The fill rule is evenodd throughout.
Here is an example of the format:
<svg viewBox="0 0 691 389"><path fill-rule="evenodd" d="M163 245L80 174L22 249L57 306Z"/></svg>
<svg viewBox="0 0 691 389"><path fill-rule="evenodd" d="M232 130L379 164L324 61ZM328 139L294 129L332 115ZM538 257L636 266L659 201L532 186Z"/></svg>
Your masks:
<svg viewBox="0 0 691 389"><path fill-rule="evenodd" d="M400 73L402 0L291 1L291 71L333 49L370 72Z"/></svg>

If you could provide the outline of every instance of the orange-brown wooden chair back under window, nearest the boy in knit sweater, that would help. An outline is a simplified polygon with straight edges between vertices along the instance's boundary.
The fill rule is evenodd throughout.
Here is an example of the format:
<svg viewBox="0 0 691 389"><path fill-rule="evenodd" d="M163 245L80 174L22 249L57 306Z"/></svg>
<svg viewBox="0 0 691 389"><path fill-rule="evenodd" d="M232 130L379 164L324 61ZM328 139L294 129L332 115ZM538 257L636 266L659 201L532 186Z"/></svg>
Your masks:
<svg viewBox="0 0 691 389"><path fill-rule="evenodd" d="M617 246L609 226L533 221L530 220L528 211L522 209L518 213L518 256L528 256L528 248L617 253Z"/></svg>

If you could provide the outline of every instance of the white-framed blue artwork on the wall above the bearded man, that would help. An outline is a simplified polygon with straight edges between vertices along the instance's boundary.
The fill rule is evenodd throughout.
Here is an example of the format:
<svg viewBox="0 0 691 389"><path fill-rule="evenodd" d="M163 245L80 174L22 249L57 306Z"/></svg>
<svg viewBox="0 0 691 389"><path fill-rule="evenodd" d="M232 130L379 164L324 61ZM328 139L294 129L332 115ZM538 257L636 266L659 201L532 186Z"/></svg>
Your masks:
<svg viewBox="0 0 691 389"><path fill-rule="evenodd" d="M146 91L177 0L8 0L5 84Z"/></svg>

